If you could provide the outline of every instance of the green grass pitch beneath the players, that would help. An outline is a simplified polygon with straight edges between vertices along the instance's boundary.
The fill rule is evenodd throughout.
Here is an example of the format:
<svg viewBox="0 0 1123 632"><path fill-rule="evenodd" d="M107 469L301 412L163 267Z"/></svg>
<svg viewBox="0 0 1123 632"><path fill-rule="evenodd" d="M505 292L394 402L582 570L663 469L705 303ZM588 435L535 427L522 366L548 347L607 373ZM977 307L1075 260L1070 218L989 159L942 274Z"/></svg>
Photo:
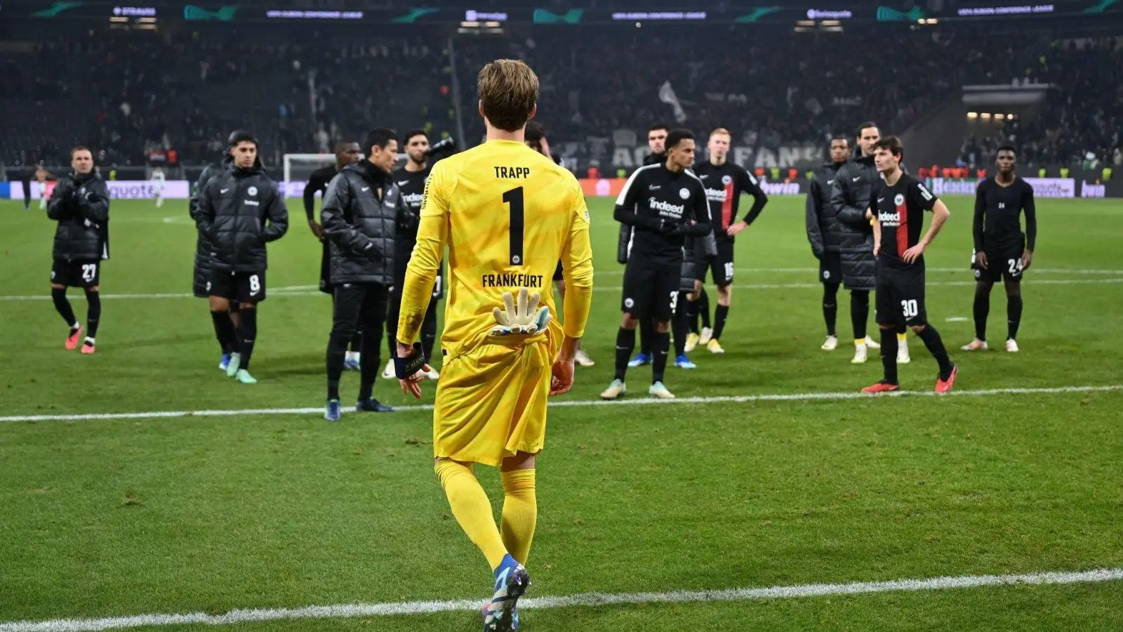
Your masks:
<svg viewBox="0 0 1123 632"><path fill-rule="evenodd" d="M622 267L610 199L591 199L596 294L572 394L612 378ZM1123 207L1039 200L1022 352L968 355L971 200L926 254L928 310L961 368L958 391L1123 383ZM319 245L290 201L270 249L256 386L218 371L191 291L186 204L115 201L98 353L63 350L48 291L54 225L0 202L0 415L307 408L323 404L330 301ZM538 467L529 596L661 593L1123 567L1123 391L812 398L880 374L823 337L802 198L776 197L737 242L727 353L668 368L679 397L794 396L555 407ZM71 297L84 320L81 291ZM140 295L108 298L111 295ZM164 295L154 297L148 295ZM714 299L711 289L711 301ZM873 327L873 324L870 324ZM989 338L1005 335L995 288ZM910 336L905 389L935 364ZM367 359L368 360L368 359ZM648 368L629 372L647 399ZM433 385L424 385L431 401ZM357 377L347 373L345 403ZM375 395L411 404L396 383ZM432 473L431 414L240 414L0 422L0 631L11 622L236 608L478 598L483 556ZM481 479L497 506L497 472ZM650 601L650 599L648 599ZM558 607L527 631L1123 629L1123 583ZM7 625L7 626L6 626ZM478 613L310 617L265 631L477 630ZM64 628L40 628L44 631ZM213 630L159 625L144 630Z"/></svg>

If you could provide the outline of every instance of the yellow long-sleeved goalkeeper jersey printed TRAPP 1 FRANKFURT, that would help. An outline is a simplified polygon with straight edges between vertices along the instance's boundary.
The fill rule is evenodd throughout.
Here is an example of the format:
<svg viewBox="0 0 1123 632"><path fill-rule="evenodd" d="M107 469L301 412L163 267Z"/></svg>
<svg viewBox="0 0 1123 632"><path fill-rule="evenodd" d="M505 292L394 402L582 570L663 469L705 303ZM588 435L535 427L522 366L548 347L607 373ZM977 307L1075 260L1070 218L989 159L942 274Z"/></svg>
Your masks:
<svg viewBox="0 0 1123 632"><path fill-rule="evenodd" d="M566 335L581 337L593 290L588 209L569 171L522 143L489 141L433 165L402 288L398 338L417 341L448 246L448 305L441 346L457 356L495 326L503 292L540 292L558 317L550 282L566 280Z"/></svg>

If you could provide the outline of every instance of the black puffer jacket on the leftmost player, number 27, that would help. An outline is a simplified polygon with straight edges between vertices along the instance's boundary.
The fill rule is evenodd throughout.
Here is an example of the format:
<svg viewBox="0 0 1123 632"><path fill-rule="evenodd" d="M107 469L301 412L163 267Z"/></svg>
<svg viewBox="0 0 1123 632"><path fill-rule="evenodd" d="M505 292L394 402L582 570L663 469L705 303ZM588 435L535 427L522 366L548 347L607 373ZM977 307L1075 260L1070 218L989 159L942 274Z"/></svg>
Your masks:
<svg viewBox="0 0 1123 632"><path fill-rule="evenodd" d="M109 187L95 173L58 179L47 217L55 228L54 258L62 261L109 259Z"/></svg>

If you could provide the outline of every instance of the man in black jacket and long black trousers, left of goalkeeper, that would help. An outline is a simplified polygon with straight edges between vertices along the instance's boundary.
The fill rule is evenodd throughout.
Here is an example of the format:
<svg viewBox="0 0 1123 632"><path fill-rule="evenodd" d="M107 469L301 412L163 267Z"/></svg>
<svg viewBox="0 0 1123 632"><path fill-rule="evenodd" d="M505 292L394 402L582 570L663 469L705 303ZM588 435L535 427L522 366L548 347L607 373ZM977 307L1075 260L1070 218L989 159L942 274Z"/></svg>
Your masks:
<svg viewBox="0 0 1123 632"><path fill-rule="evenodd" d="M328 338L328 406L323 415L339 421L339 377L347 341L356 326L363 332L363 368L356 410L391 412L372 398L378 374L386 303L394 285L395 238L408 222L409 208L391 170L398 161L398 139L391 129L372 129L363 148L367 159L350 164L331 181L323 197L320 223L331 247L335 318Z"/></svg>

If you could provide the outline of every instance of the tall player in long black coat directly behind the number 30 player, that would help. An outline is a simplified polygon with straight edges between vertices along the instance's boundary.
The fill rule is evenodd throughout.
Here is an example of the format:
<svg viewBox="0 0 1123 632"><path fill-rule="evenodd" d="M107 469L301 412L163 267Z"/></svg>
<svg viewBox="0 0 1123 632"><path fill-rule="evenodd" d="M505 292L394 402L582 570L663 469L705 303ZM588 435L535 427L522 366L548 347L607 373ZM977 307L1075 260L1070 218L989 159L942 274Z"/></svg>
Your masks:
<svg viewBox="0 0 1123 632"><path fill-rule="evenodd" d="M882 177L874 166L874 143L882 139L875 123L858 126L858 156L839 169L831 187L831 207L842 232L839 240L839 259L842 286L850 290L850 322L853 325L853 360L862 364L868 349L880 345L866 335L869 320L869 292L877 285L877 259L874 256L874 229L866 218L874 190L880 187ZM904 333L897 337L898 363L909 362L909 346Z"/></svg>

